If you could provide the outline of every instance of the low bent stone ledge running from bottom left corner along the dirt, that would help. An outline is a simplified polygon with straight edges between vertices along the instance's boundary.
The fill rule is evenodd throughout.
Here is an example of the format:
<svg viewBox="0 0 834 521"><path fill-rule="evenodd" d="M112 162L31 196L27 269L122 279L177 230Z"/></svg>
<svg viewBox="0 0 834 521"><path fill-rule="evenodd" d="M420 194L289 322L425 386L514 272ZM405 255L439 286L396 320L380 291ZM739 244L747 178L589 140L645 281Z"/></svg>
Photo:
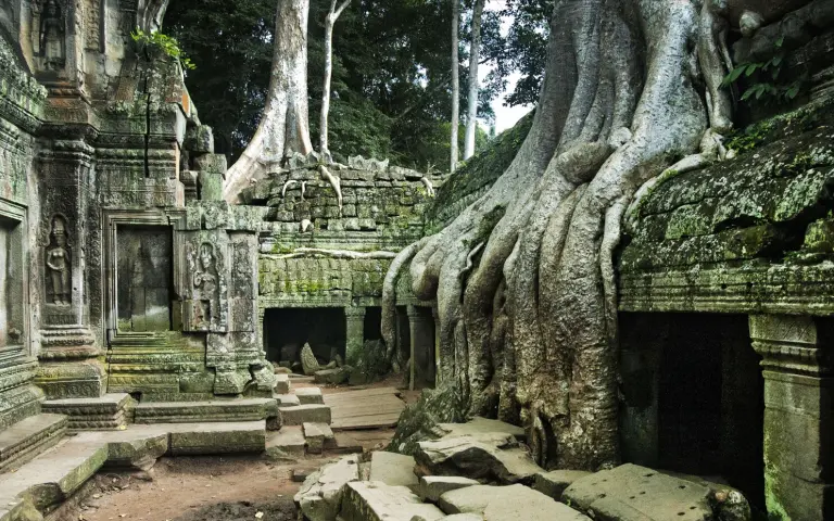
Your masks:
<svg viewBox="0 0 834 521"><path fill-rule="evenodd" d="M42 519L105 465L142 468L164 455L262 453L264 421L131 425L63 440L14 473L0 474L0 521Z"/></svg>

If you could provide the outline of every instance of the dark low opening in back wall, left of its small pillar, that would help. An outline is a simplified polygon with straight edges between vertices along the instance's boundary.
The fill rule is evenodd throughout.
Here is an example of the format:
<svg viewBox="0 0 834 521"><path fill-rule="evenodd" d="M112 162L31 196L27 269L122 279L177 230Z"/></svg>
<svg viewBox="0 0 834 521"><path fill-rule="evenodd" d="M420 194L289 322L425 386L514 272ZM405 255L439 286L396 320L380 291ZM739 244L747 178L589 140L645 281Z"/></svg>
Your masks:
<svg viewBox="0 0 834 521"><path fill-rule="evenodd" d="M336 355L344 359L346 342L344 310L341 307L266 309L264 346L269 361L292 366L309 343L320 364Z"/></svg>

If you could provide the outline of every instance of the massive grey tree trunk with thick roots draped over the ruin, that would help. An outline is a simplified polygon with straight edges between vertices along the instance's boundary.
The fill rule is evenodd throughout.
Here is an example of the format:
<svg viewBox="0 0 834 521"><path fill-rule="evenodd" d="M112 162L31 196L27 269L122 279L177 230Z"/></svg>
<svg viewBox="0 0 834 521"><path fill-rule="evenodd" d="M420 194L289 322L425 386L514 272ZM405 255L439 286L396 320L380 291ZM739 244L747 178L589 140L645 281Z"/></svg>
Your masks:
<svg viewBox="0 0 834 521"><path fill-rule="evenodd" d="M386 314L401 269L418 298L437 298L441 381L460 387L472 415L520 421L546 467L619 460L612 257L637 189L671 157L708 153L687 155L713 131L698 63L720 60L721 46L698 41L716 31L700 30L695 3L556 0L515 160L387 278ZM712 55L698 60L698 49Z"/></svg>

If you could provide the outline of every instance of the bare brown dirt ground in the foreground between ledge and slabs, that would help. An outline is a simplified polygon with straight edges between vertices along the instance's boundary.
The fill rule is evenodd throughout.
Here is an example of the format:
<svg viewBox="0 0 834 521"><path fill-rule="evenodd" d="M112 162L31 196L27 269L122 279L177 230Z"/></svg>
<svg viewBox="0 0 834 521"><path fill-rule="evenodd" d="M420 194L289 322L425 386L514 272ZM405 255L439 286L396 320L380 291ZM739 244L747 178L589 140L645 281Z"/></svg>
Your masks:
<svg viewBox="0 0 834 521"><path fill-rule="evenodd" d="M100 473L81 507L62 519L290 521L296 516L292 496L301 485L292 482L292 470L317 469L327 459L273 465L256 456L163 458L148 475Z"/></svg>

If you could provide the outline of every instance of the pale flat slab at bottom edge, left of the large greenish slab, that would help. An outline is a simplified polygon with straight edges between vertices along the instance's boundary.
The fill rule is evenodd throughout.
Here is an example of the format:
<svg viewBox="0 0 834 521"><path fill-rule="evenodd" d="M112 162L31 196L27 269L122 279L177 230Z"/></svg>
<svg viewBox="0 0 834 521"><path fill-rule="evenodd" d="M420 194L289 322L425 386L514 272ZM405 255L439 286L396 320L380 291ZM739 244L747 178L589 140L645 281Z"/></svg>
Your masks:
<svg viewBox="0 0 834 521"><path fill-rule="evenodd" d="M485 521L590 521L587 516L518 484L458 488L440 496L439 505L446 513L476 513Z"/></svg>

